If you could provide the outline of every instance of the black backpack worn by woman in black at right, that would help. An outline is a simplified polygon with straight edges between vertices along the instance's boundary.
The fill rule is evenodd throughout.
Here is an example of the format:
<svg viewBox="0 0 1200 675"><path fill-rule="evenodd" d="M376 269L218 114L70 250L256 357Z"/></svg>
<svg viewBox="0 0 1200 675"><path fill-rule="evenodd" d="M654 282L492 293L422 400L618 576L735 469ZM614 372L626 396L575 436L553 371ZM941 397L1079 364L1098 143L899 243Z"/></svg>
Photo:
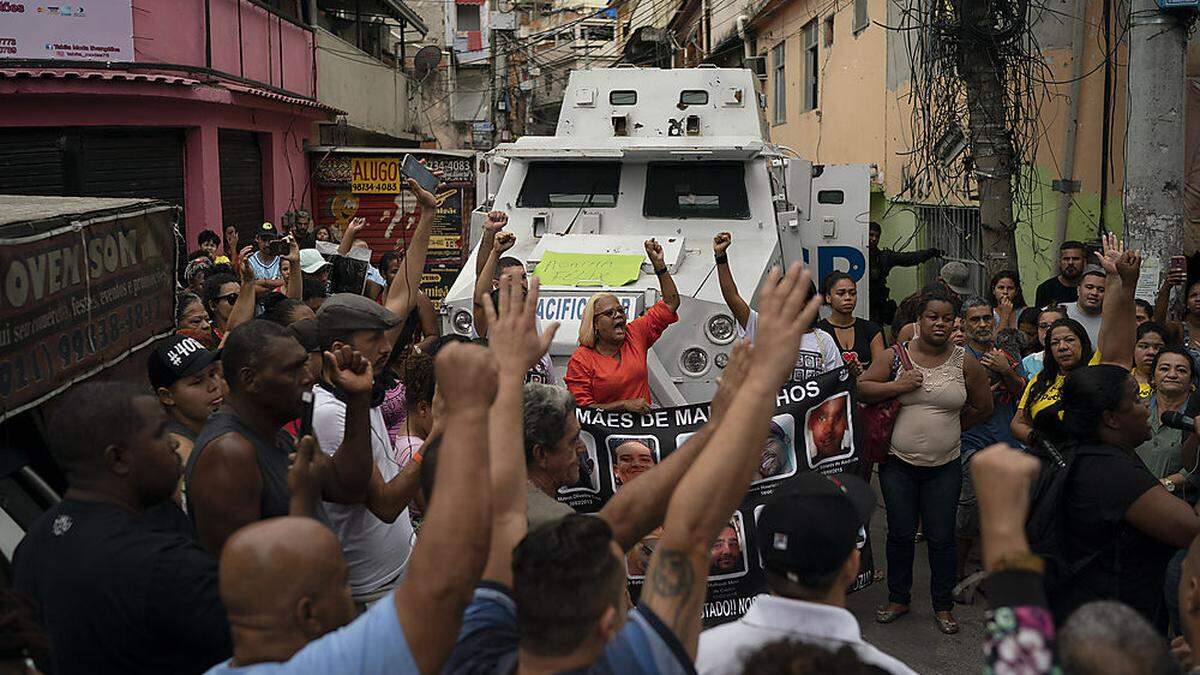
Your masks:
<svg viewBox="0 0 1200 675"><path fill-rule="evenodd" d="M1067 485L1075 460L1090 454L1085 448L1066 453L1050 442L1038 441L1033 455L1042 462L1042 471L1030 490L1030 515L1025 521L1025 537L1030 550L1045 561L1045 590L1052 595L1099 557L1094 551L1070 562L1067 550Z"/></svg>

